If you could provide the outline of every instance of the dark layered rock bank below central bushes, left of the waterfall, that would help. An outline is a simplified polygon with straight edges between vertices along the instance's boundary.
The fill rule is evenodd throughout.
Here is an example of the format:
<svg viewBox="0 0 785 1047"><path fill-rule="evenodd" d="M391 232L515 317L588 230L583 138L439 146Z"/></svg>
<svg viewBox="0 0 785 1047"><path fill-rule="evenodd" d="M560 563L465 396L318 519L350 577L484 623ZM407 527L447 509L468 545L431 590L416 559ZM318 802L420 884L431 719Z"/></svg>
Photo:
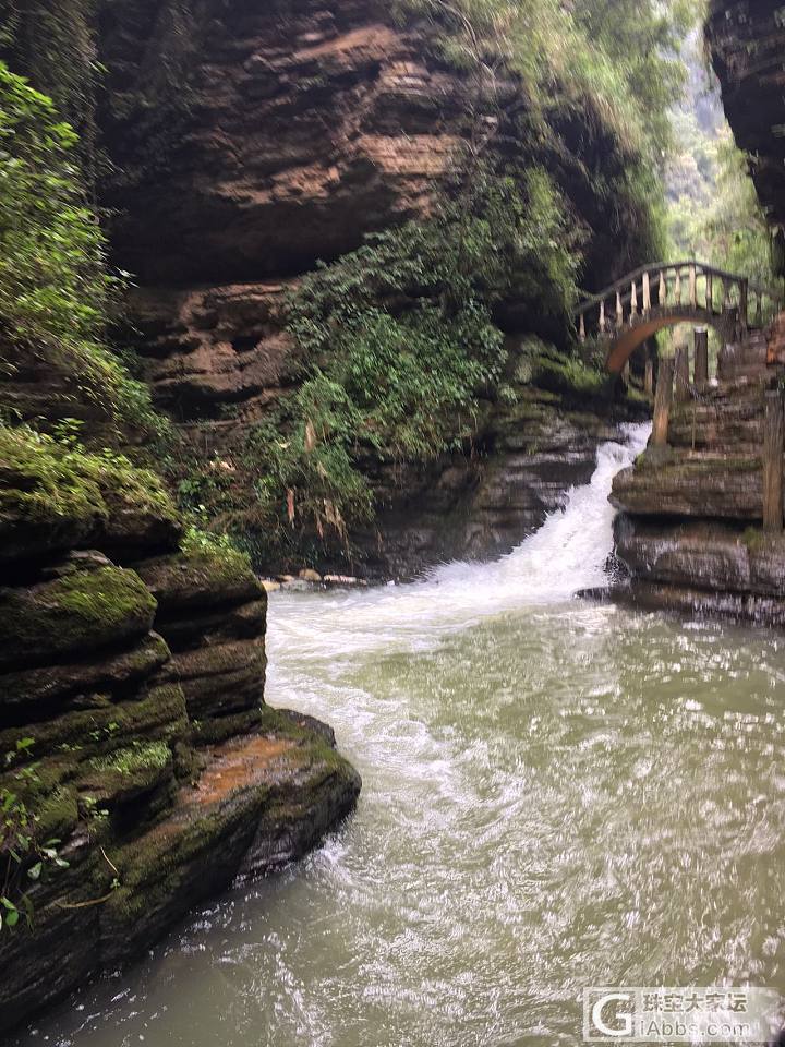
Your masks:
<svg viewBox="0 0 785 1047"><path fill-rule="evenodd" d="M384 541L359 535L366 573L406 577L444 559L510 552L570 488L589 482L599 444L618 438L616 423L647 417L643 398L614 400L611 382L577 390L558 353L527 342L511 349L516 402L486 406L473 455L374 477Z"/></svg>

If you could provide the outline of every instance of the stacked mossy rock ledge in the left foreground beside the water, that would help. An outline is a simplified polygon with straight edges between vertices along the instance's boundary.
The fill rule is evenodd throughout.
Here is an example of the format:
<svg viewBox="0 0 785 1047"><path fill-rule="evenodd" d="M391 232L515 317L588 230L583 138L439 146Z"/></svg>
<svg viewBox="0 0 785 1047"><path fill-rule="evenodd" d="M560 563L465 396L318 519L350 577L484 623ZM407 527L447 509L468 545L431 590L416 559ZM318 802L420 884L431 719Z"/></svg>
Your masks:
<svg viewBox="0 0 785 1047"><path fill-rule="evenodd" d="M25 879L33 927L3 932L2 1031L303 855L360 779L329 729L264 703L241 557L183 543L150 474L0 440L0 787L69 863Z"/></svg>

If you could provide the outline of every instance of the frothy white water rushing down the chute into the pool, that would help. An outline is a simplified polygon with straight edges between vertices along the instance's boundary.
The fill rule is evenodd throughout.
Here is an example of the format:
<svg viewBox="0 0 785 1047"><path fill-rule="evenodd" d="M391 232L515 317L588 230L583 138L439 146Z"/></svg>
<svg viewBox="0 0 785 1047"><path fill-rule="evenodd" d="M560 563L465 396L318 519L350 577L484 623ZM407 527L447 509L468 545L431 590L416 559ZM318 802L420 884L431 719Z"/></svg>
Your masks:
<svg viewBox="0 0 785 1047"><path fill-rule="evenodd" d="M534 534L493 563L456 562L423 581L363 592L273 601L271 649L321 657L379 647L427 647L445 631L519 607L559 603L581 589L602 586L613 549L615 510L608 502L616 473L643 447L650 426L624 426L625 443L597 450L591 482L573 488L565 507L552 513Z"/></svg>

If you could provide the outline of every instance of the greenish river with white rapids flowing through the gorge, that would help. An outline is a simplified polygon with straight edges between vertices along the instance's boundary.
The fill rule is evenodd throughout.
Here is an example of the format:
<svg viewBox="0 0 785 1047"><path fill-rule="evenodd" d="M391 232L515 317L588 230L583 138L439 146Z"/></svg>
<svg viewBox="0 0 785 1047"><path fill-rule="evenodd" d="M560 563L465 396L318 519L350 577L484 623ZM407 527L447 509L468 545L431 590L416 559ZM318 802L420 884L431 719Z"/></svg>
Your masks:
<svg viewBox="0 0 785 1047"><path fill-rule="evenodd" d="M16 1043L571 1045L588 985L785 992L783 638L573 598L628 435L497 563L275 594L268 701L335 726L355 815Z"/></svg>

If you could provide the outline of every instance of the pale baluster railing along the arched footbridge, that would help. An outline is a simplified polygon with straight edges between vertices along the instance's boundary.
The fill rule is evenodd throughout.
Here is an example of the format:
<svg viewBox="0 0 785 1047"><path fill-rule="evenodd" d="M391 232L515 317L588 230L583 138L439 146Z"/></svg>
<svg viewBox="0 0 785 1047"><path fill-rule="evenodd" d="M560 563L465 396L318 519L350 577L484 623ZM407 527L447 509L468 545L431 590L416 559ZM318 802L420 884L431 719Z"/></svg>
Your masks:
<svg viewBox="0 0 785 1047"><path fill-rule="evenodd" d="M742 329L762 326L764 318L782 306L778 291L752 284L744 276L726 273L702 262L657 262L643 265L587 299L576 310L578 334L596 332L601 338L613 338L668 309L695 312L697 318L734 315Z"/></svg>

